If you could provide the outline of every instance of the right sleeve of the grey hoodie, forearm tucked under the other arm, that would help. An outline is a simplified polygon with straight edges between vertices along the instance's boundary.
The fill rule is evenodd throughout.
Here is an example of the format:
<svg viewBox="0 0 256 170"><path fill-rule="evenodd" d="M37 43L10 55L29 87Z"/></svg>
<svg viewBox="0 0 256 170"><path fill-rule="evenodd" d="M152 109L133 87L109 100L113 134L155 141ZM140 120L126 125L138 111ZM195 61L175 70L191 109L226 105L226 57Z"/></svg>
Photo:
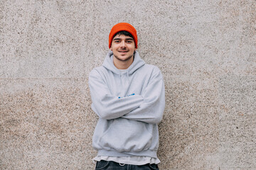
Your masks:
<svg viewBox="0 0 256 170"><path fill-rule="evenodd" d="M146 123L159 123L164 113L165 91L164 80L158 67L155 67L148 86L142 91L142 96L144 102L122 118Z"/></svg>

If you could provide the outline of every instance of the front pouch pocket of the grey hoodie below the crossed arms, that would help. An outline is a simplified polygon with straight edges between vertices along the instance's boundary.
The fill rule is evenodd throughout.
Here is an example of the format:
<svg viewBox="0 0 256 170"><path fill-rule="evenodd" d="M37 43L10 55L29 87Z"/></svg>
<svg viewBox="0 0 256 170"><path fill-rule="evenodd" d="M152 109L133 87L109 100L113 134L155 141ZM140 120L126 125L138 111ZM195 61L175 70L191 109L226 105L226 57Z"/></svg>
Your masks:
<svg viewBox="0 0 256 170"><path fill-rule="evenodd" d="M140 152L149 149L152 135L146 129L146 123L118 118L100 137L102 149L117 152Z"/></svg>

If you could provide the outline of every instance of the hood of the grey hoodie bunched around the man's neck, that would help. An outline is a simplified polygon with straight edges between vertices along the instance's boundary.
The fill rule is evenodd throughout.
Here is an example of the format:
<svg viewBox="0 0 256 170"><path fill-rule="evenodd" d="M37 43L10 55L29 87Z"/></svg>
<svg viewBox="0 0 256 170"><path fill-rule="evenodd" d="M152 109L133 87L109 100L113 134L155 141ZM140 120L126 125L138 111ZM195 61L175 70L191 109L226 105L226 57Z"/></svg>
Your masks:
<svg viewBox="0 0 256 170"><path fill-rule="evenodd" d="M119 74L119 69L117 69L117 67L114 66L113 57L113 52L108 52L102 66L114 72L115 74ZM127 69L127 74L133 74L137 69L142 67L144 64L144 60L142 60L142 58L139 57L139 52L135 51L134 61Z"/></svg>

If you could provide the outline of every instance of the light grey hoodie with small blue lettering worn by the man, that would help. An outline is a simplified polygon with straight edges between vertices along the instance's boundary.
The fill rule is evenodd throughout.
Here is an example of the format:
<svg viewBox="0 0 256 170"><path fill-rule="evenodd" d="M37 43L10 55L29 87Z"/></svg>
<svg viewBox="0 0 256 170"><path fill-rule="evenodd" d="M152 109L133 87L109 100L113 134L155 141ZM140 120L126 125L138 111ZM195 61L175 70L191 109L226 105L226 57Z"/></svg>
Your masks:
<svg viewBox="0 0 256 170"><path fill-rule="evenodd" d="M145 64L135 52L126 72L114 67L108 52L89 76L92 110L97 122L92 145L97 156L157 157L157 123L164 113L164 80L158 67Z"/></svg>

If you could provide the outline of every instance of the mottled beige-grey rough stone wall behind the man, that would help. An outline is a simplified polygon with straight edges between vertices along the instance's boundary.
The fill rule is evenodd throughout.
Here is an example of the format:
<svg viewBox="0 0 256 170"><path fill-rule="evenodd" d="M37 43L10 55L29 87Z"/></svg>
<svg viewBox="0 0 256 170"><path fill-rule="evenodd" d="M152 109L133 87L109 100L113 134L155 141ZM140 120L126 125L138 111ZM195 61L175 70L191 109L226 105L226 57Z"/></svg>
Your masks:
<svg viewBox="0 0 256 170"><path fill-rule="evenodd" d="M0 1L0 169L93 169L87 77L114 24L166 84L160 168L256 169L256 1Z"/></svg>

